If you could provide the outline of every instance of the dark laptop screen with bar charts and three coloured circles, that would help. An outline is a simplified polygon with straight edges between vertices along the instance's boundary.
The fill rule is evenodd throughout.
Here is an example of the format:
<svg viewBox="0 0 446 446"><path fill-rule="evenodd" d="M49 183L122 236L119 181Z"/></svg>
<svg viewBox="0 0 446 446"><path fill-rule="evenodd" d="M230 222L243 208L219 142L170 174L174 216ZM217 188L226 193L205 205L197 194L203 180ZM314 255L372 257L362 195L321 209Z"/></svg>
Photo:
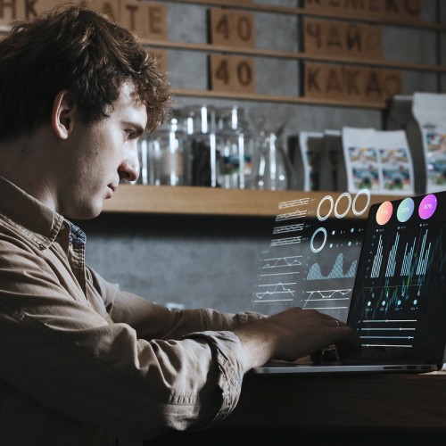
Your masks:
<svg viewBox="0 0 446 446"><path fill-rule="evenodd" d="M446 201L446 193L437 194ZM437 196L406 198L372 208L351 303L364 347L417 350L421 326L443 318L446 221ZM444 326L441 323L440 326ZM436 334L442 335L442 334Z"/></svg>

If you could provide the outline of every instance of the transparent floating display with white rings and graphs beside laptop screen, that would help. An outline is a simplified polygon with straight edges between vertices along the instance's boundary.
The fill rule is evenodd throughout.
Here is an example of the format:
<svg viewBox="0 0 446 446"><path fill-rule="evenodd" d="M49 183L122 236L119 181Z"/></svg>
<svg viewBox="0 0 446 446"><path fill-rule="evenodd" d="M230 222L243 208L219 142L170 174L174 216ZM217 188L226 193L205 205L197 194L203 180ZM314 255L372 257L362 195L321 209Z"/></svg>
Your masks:
<svg viewBox="0 0 446 446"><path fill-rule="evenodd" d="M366 224L356 217L367 216L370 194L320 196L278 204L252 294L255 310L299 306L346 321Z"/></svg>

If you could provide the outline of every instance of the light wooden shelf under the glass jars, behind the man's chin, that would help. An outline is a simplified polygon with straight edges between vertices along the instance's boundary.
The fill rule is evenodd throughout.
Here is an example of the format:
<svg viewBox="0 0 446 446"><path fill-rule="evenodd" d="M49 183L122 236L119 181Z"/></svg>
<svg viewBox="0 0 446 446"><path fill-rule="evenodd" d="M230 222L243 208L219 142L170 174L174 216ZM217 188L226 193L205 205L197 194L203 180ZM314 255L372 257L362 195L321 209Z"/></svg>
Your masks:
<svg viewBox="0 0 446 446"><path fill-rule="evenodd" d="M287 191L256 191L219 189L194 186L142 186L121 185L111 200L104 203L104 212L168 213L185 215L275 217L280 202L309 197L320 202L327 194L336 199L341 193ZM394 197L393 197L394 198ZM365 196L364 196L365 199ZM391 199L385 195L372 195L371 203ZM329 201L321 207L322 215L328 212ZM346 216L358 218L352 212ZM366 214L359 216L365 218Z"/></svg>

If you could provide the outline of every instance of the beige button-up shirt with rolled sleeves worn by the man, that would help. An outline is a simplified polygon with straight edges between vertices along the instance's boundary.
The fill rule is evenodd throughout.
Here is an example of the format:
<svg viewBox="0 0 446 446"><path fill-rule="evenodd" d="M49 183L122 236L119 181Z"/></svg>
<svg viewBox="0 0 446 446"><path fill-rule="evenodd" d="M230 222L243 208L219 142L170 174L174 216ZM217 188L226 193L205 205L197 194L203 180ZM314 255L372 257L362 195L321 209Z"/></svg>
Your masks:
<svg viewBox="0 0 446 446"><path fill-rule="evenodd" d="M219 421L243 379L227 330L252 318L120 291L86 267L81 231L0 178L2 446L128 444Z"/></svg>

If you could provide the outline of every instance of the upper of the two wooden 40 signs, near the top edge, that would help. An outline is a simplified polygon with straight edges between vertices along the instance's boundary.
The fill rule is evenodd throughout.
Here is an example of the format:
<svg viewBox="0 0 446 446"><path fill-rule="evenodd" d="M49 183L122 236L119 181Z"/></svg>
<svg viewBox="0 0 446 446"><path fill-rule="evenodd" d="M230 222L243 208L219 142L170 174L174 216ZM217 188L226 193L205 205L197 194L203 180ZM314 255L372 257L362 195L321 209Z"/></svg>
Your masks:
<svg viewBox="0 0 446 446"><path fill-rule="evenodd" d="M252 13L211 10L211 43L214 45L254 46Z"/></svg>

